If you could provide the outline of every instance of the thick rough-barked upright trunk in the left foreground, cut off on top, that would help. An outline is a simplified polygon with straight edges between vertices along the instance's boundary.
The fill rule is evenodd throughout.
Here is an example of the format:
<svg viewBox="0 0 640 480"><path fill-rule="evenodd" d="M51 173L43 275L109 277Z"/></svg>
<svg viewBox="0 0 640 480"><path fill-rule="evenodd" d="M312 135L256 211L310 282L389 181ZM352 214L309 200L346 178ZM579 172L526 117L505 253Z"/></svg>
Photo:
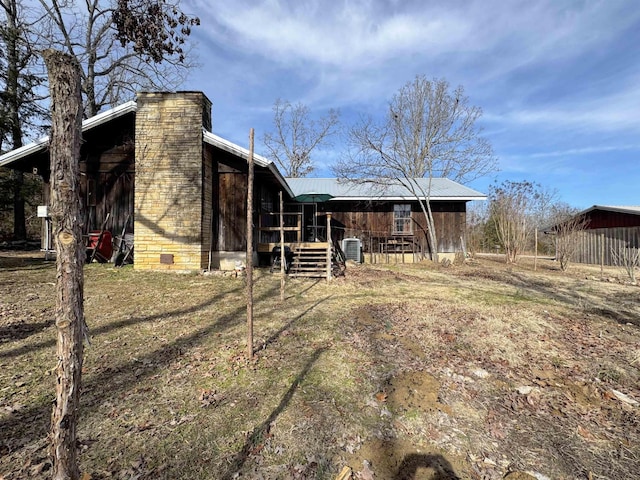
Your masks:
<svg viewBox="0 0 640 480"><path fill-rule="evenodd" d="M51 218L56 260L56 403L51 415L54 480L80 477L76 426L80 403L85 248L80 225L80 68L69 55L43 53L51 93Z"/></svg>

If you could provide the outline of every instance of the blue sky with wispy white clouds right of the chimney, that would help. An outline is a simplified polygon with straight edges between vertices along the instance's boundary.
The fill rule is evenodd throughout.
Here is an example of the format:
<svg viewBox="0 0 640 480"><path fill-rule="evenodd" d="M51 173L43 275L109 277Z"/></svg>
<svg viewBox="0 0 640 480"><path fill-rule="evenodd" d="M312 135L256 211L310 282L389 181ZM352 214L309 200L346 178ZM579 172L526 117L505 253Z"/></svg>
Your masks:
<svg viewBox="0 0 640 480"><path fill-rule="evenodd" d="M382 118L416 75L464 87L499 172L576 208L640 205L636 0L183 0L199 67L181 89L213 103L213 132L265 154L276 99L343 125ZM314 151L330 177L339 139Z"/></svg>

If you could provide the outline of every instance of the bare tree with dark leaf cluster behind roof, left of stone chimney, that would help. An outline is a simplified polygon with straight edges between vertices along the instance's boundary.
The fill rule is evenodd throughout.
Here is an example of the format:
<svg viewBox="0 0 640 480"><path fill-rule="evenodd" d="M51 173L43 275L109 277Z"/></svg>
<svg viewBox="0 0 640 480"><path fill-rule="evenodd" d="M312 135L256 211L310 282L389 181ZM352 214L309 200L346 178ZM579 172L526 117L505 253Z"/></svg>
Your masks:
<svg viewBox="0 0 640 480"><path fill-rule="evenodd" d="M81 65L86 117L138 90L171 90L184 79L190 66L186 40L200 20L178 10L177 2L39 2L42 41Z"/></svg>

